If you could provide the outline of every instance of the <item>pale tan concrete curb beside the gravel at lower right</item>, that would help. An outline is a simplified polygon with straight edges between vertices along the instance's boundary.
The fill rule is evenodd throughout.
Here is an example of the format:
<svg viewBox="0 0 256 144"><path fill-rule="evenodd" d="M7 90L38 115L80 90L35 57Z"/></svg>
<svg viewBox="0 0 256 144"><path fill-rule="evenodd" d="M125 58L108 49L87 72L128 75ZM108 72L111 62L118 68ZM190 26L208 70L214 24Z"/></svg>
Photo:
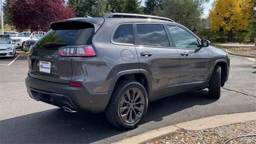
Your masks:
<svg viewBox="0 0 256 144"><path fill-rule="evenodd" d="M210 116L198 120L182 122L172 126L166 126L157 130L151 130L138 136L133 136L120 142L115 142L114 144L143 144L151 140L162 139L166 136L177 134L179 130L183 132L198 131L239 122L249 122L253 120L256 120L256 112L243 112L236 114Z"/></svg>

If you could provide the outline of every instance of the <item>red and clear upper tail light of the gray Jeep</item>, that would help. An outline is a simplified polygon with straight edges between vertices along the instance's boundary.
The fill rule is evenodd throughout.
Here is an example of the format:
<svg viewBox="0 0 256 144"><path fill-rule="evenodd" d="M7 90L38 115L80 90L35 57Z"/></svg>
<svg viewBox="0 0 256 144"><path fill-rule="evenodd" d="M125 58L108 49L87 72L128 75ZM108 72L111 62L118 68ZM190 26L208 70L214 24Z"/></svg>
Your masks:
<svg viewBox="0 0 256 144"><path fill-rule="evenodd" d="M60 56L94 57L96 53L92 46L65 46L58 49Z"/></svg>

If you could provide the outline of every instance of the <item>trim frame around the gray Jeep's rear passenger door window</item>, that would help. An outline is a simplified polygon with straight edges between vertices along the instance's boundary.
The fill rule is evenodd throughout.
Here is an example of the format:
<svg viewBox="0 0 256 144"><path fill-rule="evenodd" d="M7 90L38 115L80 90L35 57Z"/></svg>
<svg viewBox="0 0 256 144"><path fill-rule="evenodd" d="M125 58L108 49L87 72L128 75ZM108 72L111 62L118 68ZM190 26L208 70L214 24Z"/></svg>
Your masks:
<svg viewBox="0 0 256 144"><path fill-rule="evenodd" d="M137 24L162 24L162 26L164 27L164 31L166 33L168 42L169 42L169 46L146 46L146 45L140 45L138 40L139 40L139 36L138 36L138 31L137 31ZM160 22L134 22L134 45L138 46L138 47L151 47L151 48L173 48L172 46L172 41L171 37L169 36L168 32L166 32L166 27L164 26L164 23L160 23Z"/></svg>

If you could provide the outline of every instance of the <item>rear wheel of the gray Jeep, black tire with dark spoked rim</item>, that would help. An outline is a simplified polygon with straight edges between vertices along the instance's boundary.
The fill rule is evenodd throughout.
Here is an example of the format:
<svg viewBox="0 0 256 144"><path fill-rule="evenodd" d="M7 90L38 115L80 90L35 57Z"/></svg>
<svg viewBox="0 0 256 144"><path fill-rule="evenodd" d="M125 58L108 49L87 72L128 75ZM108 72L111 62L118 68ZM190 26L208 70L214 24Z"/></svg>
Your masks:
<svg viewBox="0 0 256 144"><path fill-rule="evenodd" d="M134 96L132 96L133 94ZM144 104L142 104L143 101ZM138 104L139 102L140 104ZM126 106L127 108L125 108ZM121 129L130 129L138 126L146 115L147 109L148 94L144 86L133 80L123 80L118 82L114 88L106 108L106 117L113 126Z"/></svg>

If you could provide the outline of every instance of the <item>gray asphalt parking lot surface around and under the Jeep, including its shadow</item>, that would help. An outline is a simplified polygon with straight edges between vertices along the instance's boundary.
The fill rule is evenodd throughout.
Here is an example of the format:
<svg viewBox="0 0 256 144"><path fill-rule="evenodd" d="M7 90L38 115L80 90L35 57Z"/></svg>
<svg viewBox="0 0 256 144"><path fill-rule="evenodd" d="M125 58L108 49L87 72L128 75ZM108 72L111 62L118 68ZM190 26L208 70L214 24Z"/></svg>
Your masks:
<svg viewBox="0 0 256 144"><path fill-rule="evenodd" d="M230 56L230 77L219 100L208 90L178 94L149 104L144 121L133 130L112 127L104 114L64 112L36 102L26 93L25 56L0 59L0 143L104 143L206 116L256 111L256 69L246 58ZM1 65L5 64L5 65Z"/></svg>

